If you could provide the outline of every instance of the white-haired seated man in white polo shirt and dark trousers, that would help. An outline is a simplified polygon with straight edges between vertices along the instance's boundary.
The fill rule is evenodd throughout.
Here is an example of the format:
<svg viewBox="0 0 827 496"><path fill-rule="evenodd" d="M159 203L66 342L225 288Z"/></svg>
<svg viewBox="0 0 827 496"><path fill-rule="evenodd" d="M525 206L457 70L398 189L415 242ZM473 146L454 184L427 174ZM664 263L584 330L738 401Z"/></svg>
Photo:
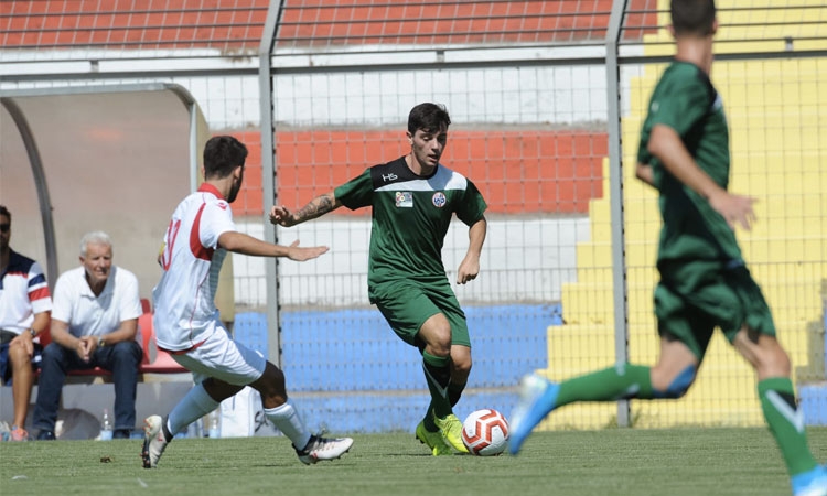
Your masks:
<svg viewBox="0 0 827 496"><path fill-rule="evenodd" d="M52 308L52 343L43 349L37 402L37 440L54 440L54 425L66 373L100 367L115 382L115 432L129 438L135 428L141 315L138 278L112 265L112 242L105 233L84 236L80 267L57 278Z"/></svg>

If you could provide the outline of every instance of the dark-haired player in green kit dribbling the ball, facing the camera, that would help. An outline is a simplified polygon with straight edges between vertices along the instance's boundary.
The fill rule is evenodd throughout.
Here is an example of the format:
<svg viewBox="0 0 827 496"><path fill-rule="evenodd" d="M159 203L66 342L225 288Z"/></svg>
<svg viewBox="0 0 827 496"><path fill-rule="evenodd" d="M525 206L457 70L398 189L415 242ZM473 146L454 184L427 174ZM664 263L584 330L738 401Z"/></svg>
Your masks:
<svg viewBox="0 0 827 496"><path fill-rule="evenodd" d="M410 153L375 165L333 192L291 213L273 206L270 222L290 227L340 206L373 207L368 296L394 332L419 348L431 395L416 436L437 455L468 453L462 422L453 413L471 371L465 314L442 265L442 245L454 214L469 226L469 247L457 283L480 272L487 224L474 184L439 159L451 119L444 107L420 104L408 116Z"/></svg>

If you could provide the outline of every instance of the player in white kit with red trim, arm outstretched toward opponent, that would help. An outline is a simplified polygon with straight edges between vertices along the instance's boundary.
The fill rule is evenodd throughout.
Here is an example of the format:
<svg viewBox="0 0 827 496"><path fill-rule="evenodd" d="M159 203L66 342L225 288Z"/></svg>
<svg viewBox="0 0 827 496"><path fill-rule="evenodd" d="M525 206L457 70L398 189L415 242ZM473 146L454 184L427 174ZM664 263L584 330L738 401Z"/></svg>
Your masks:
<svg viewBox="0 0 827 496"><path fill-rule="evenodd" d="M215 290L227 251L304 261L327 247L281 246L238 233L229 204L244 181L247 147L229 136L211 138L204 148L204 184L172 214L159 263L161 280L152 291L158 347L193 373L195 386L165 417L147 418L143 466L154 468L173 436L215 410L245 386L261 395L264 412L293 443L304 464L333 460L347 452L350 438L311 434L288 401L284 374L259 352L232 339L218 319Z"/></svg>

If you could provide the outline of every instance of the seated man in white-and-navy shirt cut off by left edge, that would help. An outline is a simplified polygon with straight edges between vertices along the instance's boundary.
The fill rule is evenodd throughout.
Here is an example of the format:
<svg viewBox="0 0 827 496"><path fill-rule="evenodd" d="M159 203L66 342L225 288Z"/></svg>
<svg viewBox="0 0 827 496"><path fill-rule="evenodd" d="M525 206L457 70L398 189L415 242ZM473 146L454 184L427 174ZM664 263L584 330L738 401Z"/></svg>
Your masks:
<svg viewBox="0 0 827 496"><path fill-rule="evenodd" d="M41 347L34 338L49 327L52 296L40 265L12 250L11 212L0 205L0 382L11 380L12 441L28 441L25 417Z"/></svg>

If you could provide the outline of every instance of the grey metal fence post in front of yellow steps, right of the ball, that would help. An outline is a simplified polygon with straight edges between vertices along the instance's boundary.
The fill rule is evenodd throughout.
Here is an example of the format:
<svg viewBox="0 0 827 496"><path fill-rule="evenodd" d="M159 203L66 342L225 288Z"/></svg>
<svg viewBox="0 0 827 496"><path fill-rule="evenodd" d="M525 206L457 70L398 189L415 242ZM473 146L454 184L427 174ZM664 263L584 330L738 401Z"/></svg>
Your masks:
<svg viewBox="0 0 827 496"><path fill-rule="evenodd" d="M627 0L612 3L605 40L605 77L609 132L609 195L612 220L612 289L614 293L614 359L629 362L629 319L626 298L626 241L623 230L623 163L620 126L620 69L617 45ZM617 401L617 425L630 427L629 400Z"/></svg>

